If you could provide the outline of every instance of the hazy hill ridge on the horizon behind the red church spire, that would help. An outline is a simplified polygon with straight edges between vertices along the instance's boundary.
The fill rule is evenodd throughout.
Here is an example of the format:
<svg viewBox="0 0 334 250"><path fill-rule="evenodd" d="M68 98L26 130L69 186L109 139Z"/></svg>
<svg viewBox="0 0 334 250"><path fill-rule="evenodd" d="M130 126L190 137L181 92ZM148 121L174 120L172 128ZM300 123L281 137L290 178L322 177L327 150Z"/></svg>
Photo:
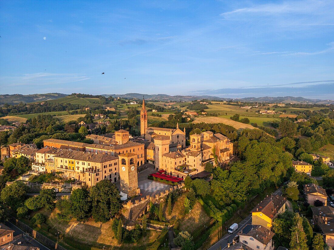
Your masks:
<svg viewBox="0 0 334 250"><path fill-rule="evenodd" d="M148 101L194 101L194 100L201 100L201 99L207 99L207 100L225 100L226 98L220 98L216 96L209 96L209 95L165 95L165 94L156 94L156 95L147 95L147 94L139 94L139 93L127 93L124 95L116 95L116 94L109 94L109 95L103 95L105 97L120 97L120 98L128 98L128 99L143 99L143 96L145 100ZM227 99L226 99L227 100Z"/></svg>

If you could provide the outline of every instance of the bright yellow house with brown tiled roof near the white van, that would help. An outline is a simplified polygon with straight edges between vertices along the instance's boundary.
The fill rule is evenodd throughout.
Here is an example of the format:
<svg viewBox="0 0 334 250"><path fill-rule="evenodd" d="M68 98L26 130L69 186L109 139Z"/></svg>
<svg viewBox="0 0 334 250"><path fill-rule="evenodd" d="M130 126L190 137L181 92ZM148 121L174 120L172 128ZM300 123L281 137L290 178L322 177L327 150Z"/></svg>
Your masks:
<svg viewBox="0 0 334 250"><path fill-rule="evenodd" d="M279 195L273 198L267 196L252 210L252 224L271 230L277 215L285 212L286 202L286 198Z"/></svg>

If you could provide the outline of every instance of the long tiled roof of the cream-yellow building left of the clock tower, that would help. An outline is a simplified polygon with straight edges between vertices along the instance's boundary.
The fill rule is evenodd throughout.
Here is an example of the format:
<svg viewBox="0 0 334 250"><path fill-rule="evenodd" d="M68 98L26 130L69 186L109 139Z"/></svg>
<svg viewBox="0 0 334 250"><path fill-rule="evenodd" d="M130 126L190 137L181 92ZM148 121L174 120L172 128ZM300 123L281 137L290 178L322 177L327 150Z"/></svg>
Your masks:
<svg viewBox="0 0 334 250"><path fill-rule="evenodd" d="M106 155L106 154L96 154L96 153L90 153L90 152L81 152L81 151L74 151L74 150L62 152L54 156L54 158L56 157L73 159L73 160L78 160L78 161L97 162L97 163L102 163L102 162L118 159L118 157L116 156L111 156L111 155Z"/></svg>

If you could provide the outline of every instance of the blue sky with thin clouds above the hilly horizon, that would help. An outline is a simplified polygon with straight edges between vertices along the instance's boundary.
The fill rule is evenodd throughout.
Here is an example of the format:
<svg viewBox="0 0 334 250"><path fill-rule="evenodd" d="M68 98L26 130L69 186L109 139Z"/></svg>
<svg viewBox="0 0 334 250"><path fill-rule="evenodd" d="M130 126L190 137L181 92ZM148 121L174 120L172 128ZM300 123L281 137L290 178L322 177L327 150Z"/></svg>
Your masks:
<svg viewBox="0 0 334 250"><path fill-rule="evenodd" d="M3 0L0 94L334 99L333 13L315 0Z"/></svg>

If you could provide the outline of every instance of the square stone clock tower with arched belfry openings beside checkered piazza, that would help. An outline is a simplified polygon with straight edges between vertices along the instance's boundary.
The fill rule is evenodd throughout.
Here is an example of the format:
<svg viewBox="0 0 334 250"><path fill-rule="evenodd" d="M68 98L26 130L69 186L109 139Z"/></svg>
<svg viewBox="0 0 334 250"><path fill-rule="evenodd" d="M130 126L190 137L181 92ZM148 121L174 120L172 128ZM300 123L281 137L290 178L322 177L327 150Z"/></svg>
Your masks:
<svg viewBox="0 0 334 250"><path fill-rule="evenodd" d="M137 173L137 155L134 153L120 154L119 171L121 181L121 192L128 194L128 197L133 197L140 194L138 187Z"/></svg>

